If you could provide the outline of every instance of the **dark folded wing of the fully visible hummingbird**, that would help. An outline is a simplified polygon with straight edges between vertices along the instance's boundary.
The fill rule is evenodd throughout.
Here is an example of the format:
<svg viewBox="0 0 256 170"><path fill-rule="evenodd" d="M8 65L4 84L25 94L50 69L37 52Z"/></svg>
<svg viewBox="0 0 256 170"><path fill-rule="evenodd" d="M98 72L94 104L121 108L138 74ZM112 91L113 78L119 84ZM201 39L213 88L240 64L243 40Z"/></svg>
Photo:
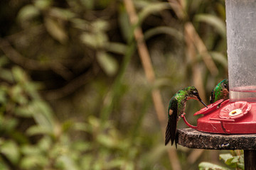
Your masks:
<svg viewBox="0 0 256 170"><path fill-rule="evenodd" d="M174 144L174 140L176 138L176 129L177 129L177 103L178 101L176 98L172 98L169 103L168 109L168 123L166 126L166 138L165 138L165 145L169 143L171 140L171 145Z"/></svg>

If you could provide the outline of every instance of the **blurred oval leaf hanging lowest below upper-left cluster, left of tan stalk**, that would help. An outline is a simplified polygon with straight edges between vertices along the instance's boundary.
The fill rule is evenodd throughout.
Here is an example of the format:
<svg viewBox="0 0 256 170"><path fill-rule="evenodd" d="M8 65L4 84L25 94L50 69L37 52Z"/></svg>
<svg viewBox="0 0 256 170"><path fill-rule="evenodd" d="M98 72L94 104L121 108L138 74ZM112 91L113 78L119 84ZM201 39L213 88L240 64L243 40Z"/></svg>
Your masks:
<svg viewBox="0 0 256 170"><path fill-rule="evenodd" d="M107 52L98 52L97 61L99 62L100 66L106 72L107 75L113 76L117 73L117 60L115 60L114 57L109 55Z"/></svg>

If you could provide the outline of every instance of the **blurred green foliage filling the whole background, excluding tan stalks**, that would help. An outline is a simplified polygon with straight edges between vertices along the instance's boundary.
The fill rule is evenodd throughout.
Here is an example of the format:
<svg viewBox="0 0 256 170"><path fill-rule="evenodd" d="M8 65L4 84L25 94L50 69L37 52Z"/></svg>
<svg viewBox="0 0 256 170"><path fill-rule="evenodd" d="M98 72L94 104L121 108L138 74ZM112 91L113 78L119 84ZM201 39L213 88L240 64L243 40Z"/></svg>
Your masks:
<svg viewBox="0 0 256 170"><path fill-rule="evenodd" d="M171 1L134 1L156 74L149 85L123 1L1 1L0 169L171 169L151 89L168 106L195 84L195 62L205 98L228 74L224 1L183 2L181 20ZM186 54L188 21L217 75ZM189 102L186 113L199 107ZM189 162L191 152L178 147L183 169L218 159Z"/></svg>

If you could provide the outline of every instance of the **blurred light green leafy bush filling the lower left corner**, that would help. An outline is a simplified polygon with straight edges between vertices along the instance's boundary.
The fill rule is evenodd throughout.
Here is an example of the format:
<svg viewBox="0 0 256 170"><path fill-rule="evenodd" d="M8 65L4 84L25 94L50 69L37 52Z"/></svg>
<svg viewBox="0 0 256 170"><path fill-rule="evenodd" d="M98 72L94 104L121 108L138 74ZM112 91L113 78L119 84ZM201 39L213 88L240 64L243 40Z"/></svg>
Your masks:
<svg viewBox="0 0 256 170"><path fill-rule="evenodd" d="M111 121L102 127L92 115L60 123L23 69L3 70L12 84L0 86L1 169L134 169L139 137L124 140Z"/></svg>

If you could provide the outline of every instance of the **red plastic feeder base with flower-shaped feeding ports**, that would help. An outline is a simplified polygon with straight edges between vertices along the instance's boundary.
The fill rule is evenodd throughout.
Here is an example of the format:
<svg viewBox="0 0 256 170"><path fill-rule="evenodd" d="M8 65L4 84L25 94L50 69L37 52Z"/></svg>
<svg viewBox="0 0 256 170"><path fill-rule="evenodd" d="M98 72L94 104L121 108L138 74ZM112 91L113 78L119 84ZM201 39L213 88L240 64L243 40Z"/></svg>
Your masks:
<svg viewBox="0 0 256 170"><path fill-rule="evenodd" d="M190 125L186 118L183 120L190 128L201 132L228 133L228 134L249 134L256 133L256 103L247 101L230 100L216 101L208 108L203 108L194 115L202 114L198 118L197 126ZM221 104L220 104L221 103ZM220 105L218 107L218 105Z"/></svg>

